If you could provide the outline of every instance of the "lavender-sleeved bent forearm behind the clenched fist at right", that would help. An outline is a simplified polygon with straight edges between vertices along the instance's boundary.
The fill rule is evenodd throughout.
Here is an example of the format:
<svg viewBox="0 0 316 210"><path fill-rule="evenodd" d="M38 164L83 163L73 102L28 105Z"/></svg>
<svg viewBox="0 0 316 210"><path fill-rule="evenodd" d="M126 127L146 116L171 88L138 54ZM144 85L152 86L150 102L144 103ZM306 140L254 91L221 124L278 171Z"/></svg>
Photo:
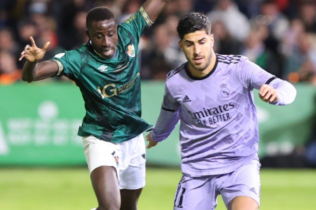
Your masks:
<svg viewBox="0 0 316 210"><path fill-rule="evenodd" d="M279 99L273 103L275 105L287 105L294 101L296 97L295 87L288 81L275 79L271 85L275 88L278 93Z"/></svg>

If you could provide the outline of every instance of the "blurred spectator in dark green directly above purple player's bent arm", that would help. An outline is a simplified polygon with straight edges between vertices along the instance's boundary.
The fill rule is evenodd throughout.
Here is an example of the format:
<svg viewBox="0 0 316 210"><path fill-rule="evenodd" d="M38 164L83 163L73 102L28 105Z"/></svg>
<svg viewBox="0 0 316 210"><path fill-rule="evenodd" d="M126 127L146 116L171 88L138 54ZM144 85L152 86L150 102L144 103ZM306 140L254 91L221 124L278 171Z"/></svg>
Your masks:
<svg viewBox="0 0 316 210"><path fill-rule="evenodd" d="M244 42L241 54L247 56L249 60L261 68L281 78L282 69L277 55L264 45L268 33L266 25L254 25Z"/></svg>

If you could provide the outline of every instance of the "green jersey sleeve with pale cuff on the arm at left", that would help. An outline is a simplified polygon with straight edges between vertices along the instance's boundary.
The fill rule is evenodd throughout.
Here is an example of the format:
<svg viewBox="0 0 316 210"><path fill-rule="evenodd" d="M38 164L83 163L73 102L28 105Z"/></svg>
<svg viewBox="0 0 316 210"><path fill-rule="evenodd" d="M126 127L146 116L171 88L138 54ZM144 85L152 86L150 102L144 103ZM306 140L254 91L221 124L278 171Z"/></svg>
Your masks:
<svg viewBox="0 0 316 210"><path fill-rule="evenodd" d="M81 56L77 50L64 51L56 54L50 60L58 64L57 76L65 75L72 80L76 80L80 73Z"/></svg>

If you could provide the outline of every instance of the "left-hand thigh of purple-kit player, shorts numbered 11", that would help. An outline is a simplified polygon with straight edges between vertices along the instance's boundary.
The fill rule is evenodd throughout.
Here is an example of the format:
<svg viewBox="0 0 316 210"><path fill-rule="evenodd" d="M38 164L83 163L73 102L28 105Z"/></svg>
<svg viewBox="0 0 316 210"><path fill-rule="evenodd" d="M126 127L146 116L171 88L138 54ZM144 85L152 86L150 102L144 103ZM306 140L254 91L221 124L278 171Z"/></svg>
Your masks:
<svg viewBox="0 0 316 210"><path fill-rule="evenodd" d="M175 210L210 210L217 205L217 192L212 176L191 177L184 174L178 184Z"/></svg>

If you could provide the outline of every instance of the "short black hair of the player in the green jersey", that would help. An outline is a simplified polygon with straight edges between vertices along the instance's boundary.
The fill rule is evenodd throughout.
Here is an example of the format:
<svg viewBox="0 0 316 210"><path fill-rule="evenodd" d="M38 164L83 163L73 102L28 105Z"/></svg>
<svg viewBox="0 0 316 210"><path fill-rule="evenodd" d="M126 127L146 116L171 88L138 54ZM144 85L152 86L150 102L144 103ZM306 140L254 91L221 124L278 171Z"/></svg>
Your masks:
<svg viewBox="0 0 316 210"><path fill-rule="evenodd" d="M106 6L98 6L91 9L87 14L86 27L89 28L93 21L100 21L106 19L114 19L115 15L112 10Z"/></svg>

